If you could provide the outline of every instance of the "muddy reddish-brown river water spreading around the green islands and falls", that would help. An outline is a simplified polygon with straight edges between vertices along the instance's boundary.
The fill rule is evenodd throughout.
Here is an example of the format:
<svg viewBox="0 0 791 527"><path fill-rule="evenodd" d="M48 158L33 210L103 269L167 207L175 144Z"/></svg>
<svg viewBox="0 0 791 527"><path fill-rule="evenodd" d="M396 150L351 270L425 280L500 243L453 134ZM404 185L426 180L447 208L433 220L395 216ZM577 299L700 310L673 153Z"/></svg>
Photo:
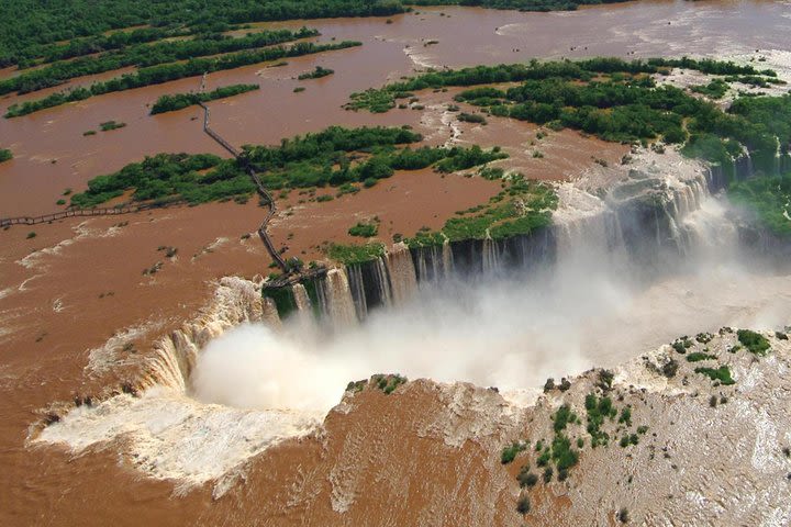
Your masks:
<svg viewBox="0 0 791 527"><path fill-rule="evenodd" d="M443 97L452 93L421 94L426 104L423 112L394 110L371 115L341 106L353 91L397 80L426 65L457 67L590 55L720 56L791 48L788 1L647 1L564 13L464 8L420 11L393 16L392 24L386 24L385 19L278 24L304 23L321 30L322 42L354 38L364 46L290 59L289 66L282 68L257 65L212 74L210 89L235 82L261 85L257 92L213 103L213 127L238 145L276 143L331 124L412 124L431 143L441 144L452 136L438 106L444 103ZM439 42L424 46L427 40ZM296 80L298 74L316 65L336 72L319 80ZM3 70L0 75L13 72ZM76 79L73 85L114 75ZM145 155L222 154L202 134L199 110L147 115L146 105L160 94L197 89L199 82L183 79L0 120L0 146L12 148L15 155L12 161L0 165L0 216L55 210L55 201L65 188L79 190L89 178ZM308 89L293 93L296 86ZM0 110L58 89L2 98ZM82 136L108 120L123 121L127 126ZM623 153L620 145L566 131L543 139L539 148L545 157L533 159L531 152L535 147L530 143L536 128L528 123L491 120L489 126L461 124L459 130L461 134L453 141L501 144L512 155L506 162L538 178L573 177L590 165L591 156L612 162ZM321 205L300 205L292 192L283 209L294 206L294 215L276 218L272 231L279 243L291 245L293 254L304 250L305 258L312 258L317 256L315 246L324 237L316 236L316 228L311 227L321 226L324 233L343 238L345 229L357 220L355 214L359 218L379 215L386 236L397 232L409 235L409 229L417 226L437 227L443 215L486 201L494 192L497 188L489 181L441 178L431 172L397 175L369 191ZM442 197L443 204L435 211L436 197ZM392 467L412 460L411 468L404 469L404 481L414 481L415 474L431 462L447 461L432 469L444 475L430 480L431 485L415 484L419 491L402 496L415 511L425 505L421 485L447 489L447 495L469 493L464 500L448 503L464 506L476 502L475 489L487 485L491 470L480 462L464 466L458 460L480 456L479 447L468 442L463 449L448 448L427 438L416 442L400 440L393 424L405 419L404 415L425 412L424 400L382 399L375 415L331 416L328 447L305 440L267 451L250 467L247 483L219 502L211 501L209 489L174 498L170 483L143 479L112 448L71 459L57 449L31 450L24 446L27 427L38 416L36 411L53 401L69 401L76 393L91 393L109 381L124 379L120 372L110 373L110 380L90 378L82 370L86 350L102 345L119 328L138 326L149 329L136 339L137 348L143 350L204 302L208 280L231 273L268 272L266 255L255 238L239 238L255 228L260 215L261 210L253 202L245 206L225 203L134 217L94 218L82 227L78 227L80 221L69 220L0 232L0 485L4 490L0 493L0 525L296 525L304 524L308 517L315 525L338 523L344 517L330 509L332 489L327 481L335 461L343 456L349 430L361 428L398 444L377 447L376 456L366 459L382 460L385 452ZM127 226L112 228L126 220ZM26 239L29 231L36 231L38 236ZM290 234L293 237L288 240ZM178 258L165 261L154 278L144 277L143 268L165 259L156 250L160 245L177 246ZM30 267L22 265L31 251L45 247L49 249L24 260ZM108 295L110 292L113 294ZM155 327L146 325L151 322ZM352 449L347 456L356 453ZM463 480L463 472L471 480L466 483L469 489L459 491L457 482ZM294 489L308 496L298 505L287 503ZM361 493L359 498L370 503L367 508L356 509L354 518L347 515L346 520L349 525L366 525L371 518L382 517L387 496L391 495ZM380 497L381 503L377 501ZM505 505L500 507L495 524L506 523L503 518L512 514L510 502L502 503ZM400 519L409 524L414 518Z"/></svg>

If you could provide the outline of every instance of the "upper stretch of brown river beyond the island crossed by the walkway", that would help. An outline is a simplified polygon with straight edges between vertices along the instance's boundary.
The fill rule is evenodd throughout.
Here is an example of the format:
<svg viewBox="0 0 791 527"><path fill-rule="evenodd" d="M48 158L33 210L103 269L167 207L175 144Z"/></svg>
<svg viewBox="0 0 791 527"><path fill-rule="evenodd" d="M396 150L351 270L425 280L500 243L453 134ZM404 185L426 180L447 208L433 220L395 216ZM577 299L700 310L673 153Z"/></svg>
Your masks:
<svg viewBox="0 0 791 527"><path fill-rule="evenodd" d="M214 127L232 143L245 144L276 143L331 124L414 124L417 115L412 113L370 115L341 106L353 91L397 80L424 66L459 67L532 57L720 56L787 49L791 7L782 1L651 1L561 13L445 8L393 16L392 22L341 19L276 24L307 24L322 32L320 41L354 38L364 46L290 59L282 68L256 65L212 74L209 88L235 82L261 85L258 92L214 103ZM428 40L438 44L424 46ZM297 75L316 65L333 68L336 74L312 81L296 80ZM73 83L112 76L108 72ZM201 134L199 122L191 121L199 117L199 110L155 117L147 114L147 105L160 94L194 90L199 82L198 78L182 79L0 120L0 144L11 147L15 155L14 160L0 166L0 215L49 212L65 188L81 189L90 177L116 170L145 155L220 154L219 147ZM296 86L304 86L307 91L293 93ZM4 98L0 110L16 100L59 89ZM82 136L108 120L127 126Z"/></svg>

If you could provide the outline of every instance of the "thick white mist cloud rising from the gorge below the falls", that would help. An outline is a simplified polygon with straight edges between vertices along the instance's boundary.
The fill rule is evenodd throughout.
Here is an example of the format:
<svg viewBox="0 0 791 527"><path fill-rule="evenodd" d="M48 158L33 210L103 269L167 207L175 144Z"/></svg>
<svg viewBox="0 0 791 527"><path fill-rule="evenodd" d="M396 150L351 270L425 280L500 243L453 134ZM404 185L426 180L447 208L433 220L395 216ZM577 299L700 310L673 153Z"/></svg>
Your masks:
<svg viewBox="0 0 791 527"><path fill-rule="evenodd" d="M586 233L552 269L422 284L405 305L359 325L321 327L307 314L281 332L244 325L202 351L194 395L244 408L326 411L349 381L380 372L508 393L613 367L684 334L782 326L791 276L756 270L726 215L713 198L690 214L694 254L664 260L661 278L646 280Z"/></svg>

